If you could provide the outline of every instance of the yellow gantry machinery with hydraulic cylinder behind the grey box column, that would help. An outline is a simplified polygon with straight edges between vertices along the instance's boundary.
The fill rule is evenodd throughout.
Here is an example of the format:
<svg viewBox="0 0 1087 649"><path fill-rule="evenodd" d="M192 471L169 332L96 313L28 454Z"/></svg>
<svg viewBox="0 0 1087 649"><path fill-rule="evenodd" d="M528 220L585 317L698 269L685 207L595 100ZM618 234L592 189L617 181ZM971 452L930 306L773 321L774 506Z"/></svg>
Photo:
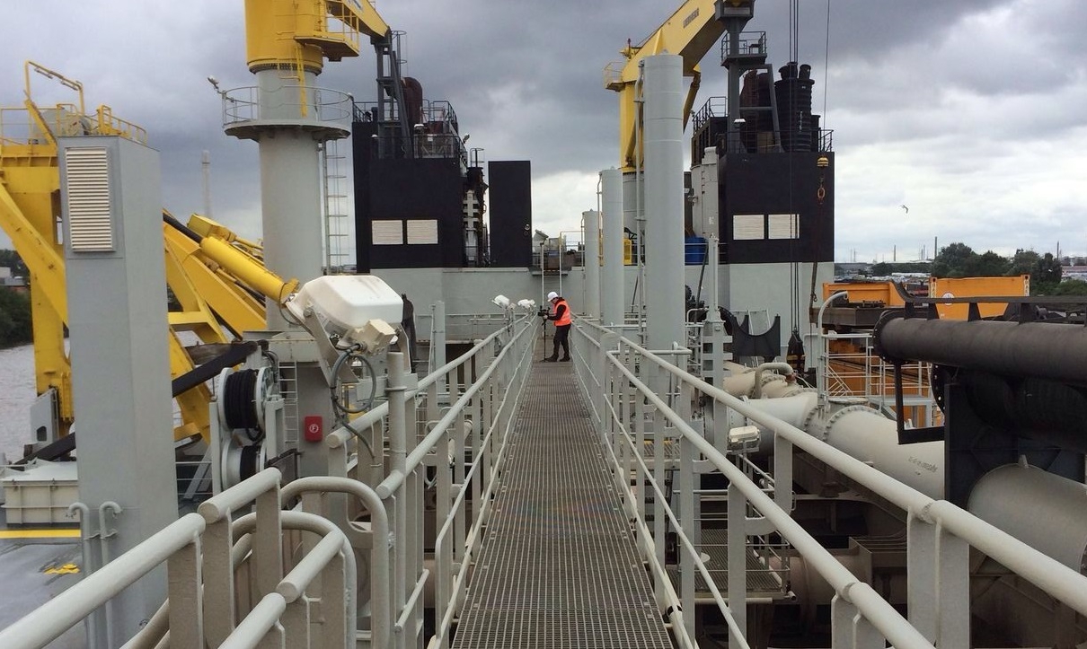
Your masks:
<svg viewBox="0 0 1087 649"><path fill-rule="evenodd" d="M23 107L0 109L0 226L30 272L37 393L55 395L58 433L66 435L74 412L72 369L64 348L67 305L64 252L58 240L57 138L110 135L146 143L147 133L114 117L109 106L88 114L78 81L33 62L26 63L25 71ZM30 92L32 73L73 90L76 103L37 105ZM168 215L163 225L167 283L180 305L180 310L168 314L175 379L195 367L179 332L191 331L202 343L226 343L224 327L235 333L263 327L264 305L259 295L282 303L298 285L265 270L257 244L210 219L193 217L190 225L185 228ZM175 440L197 435L207 440L211 398L207 386L201 383L176 398L183 423L174 431Z"/></svg>

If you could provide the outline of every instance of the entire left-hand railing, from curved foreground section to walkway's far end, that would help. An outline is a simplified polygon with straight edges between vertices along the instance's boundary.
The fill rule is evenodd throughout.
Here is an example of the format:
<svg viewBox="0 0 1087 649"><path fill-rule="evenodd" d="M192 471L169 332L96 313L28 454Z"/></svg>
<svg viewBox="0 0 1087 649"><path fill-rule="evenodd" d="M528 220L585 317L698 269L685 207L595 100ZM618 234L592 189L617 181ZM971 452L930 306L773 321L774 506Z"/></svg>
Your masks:
<svg viewBox="0 0 1087 649"><path fill-rule="evenodd" d="M326 437L330 475L280 489L265 469L0 632L0 647L43 647L162 564L166 603L111 644L413 647L433 628L432 645L448 647L538 327L507 318L417 383L404 355L389 354L386 400ZM357 556L370 584L358 605ZM435 619L424 621L430 588Z"/></svg>

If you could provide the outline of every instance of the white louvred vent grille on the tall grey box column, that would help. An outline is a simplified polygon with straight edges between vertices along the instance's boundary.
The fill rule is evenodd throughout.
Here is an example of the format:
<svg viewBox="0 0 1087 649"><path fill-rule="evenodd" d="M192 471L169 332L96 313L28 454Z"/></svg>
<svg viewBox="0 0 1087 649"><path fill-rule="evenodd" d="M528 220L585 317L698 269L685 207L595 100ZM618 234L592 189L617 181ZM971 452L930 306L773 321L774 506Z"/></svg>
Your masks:
<svg viewBox="0 0 1087 649"><path fill-rule="evenodd" d="M115 250L109 162L105 149L68 149L65 153L72 252Z"/></svg>

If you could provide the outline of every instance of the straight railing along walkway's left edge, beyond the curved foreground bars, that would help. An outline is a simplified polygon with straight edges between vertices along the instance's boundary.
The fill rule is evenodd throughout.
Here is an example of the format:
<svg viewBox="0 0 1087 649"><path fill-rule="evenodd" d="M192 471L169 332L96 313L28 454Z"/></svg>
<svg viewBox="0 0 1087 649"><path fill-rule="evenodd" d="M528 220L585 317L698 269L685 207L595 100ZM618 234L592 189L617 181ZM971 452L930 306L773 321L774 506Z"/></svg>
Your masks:
<svg viewBox="0 0 1087 649"><path fill-rule="evenodd" d="M326 438L329 473L374 485L389 511L390 647L415 646L424 626L435 629L432 646L449 645L538 327L530 316L505 319L417 385L405 384L400 355L390 355L388 399ZM427 511L433 546L425 539ZM434 548L433 570L424 567L424 546ZM422 594L430 588L435 620L424 625Z"/></svg>

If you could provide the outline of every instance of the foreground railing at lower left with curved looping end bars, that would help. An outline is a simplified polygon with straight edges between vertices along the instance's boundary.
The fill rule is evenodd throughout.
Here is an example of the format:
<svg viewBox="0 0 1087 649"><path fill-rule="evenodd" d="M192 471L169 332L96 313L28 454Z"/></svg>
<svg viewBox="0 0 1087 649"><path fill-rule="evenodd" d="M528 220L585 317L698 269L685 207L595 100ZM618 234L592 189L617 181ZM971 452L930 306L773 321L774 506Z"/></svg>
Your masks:
<svg viewBox="0 0 1087 649"><path fill-rule="evenodd" d="M343 479L303 479L282 493L279 480L278 470L265 469L205 500L198 513L184 516L0 632L0 647L43 647L165 564L167 602L134 637L111 638L111 645L353 649L352 546L371 548L373 574L387 574L380 567L388 565L388 545L377 542L387 535L380 501L373 489ZM295 496L314 489L363 500L374 516L374 539L362 531L355 536L365 538L351 539L324 516L283 510ZM299 542L300 557L285 551ZM239 577L240 570L248 570L249 578ZM387 601L387 578L372 580L375 602ZM375 616L374 646L387 646L378 645L387 636L388 626Z"/></svg>

